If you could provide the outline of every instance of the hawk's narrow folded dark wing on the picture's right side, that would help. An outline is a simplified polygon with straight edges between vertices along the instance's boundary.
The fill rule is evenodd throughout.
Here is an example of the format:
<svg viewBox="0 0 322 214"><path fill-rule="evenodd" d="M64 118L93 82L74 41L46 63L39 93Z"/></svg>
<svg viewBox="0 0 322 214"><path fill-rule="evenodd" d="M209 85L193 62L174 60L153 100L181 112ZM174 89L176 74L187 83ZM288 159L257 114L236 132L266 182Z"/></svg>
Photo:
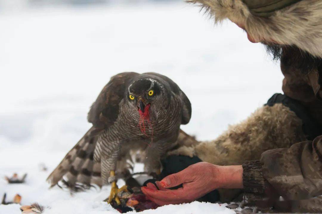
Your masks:
<svg viewBox="0 0 322 214"><path fill-rule="evenodd" d="M161 79L164 82L168 83L170 90L181 98L181 102L182 102L181 124L189 123L190 118L191 118L191 103L190 103L188 97L185 95L185 93L179 88L179 86L174 81L172 81L170 78L168 78L164 75L161 75L159 73L143 73L142 75L155 76L158 79Z"/></svg>

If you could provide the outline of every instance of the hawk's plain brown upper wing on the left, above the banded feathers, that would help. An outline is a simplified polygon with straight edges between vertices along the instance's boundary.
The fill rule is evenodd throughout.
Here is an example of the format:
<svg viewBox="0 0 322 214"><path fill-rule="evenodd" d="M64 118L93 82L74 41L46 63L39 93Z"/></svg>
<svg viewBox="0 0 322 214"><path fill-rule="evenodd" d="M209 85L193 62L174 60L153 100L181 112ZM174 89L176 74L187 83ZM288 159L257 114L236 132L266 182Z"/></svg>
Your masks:
<svg viewBox="0 0 322 214"><path fill-rule="evenodd" d="M123 99L125 90L128 90L127 86L138 75L140 74L135 72L124 72L113 76L90 107L88 122L99 129L114 124L118 118L118 104Z"/></svg>

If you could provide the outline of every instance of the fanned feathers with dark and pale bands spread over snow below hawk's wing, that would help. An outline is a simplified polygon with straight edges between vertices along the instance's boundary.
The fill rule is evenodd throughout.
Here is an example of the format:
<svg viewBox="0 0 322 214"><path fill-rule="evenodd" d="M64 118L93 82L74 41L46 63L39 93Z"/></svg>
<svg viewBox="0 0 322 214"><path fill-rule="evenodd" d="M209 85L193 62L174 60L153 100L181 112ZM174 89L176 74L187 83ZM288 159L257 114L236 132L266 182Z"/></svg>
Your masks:
<svg viewBox="0 0 322 214"><path fill-rule="evenodd" d="M60 164L48 176L50 187L62 181L71 190L78 191L92 184L102 185L100 163L94 162L93 154L100 130L92 127L66 154Z"/></svg>

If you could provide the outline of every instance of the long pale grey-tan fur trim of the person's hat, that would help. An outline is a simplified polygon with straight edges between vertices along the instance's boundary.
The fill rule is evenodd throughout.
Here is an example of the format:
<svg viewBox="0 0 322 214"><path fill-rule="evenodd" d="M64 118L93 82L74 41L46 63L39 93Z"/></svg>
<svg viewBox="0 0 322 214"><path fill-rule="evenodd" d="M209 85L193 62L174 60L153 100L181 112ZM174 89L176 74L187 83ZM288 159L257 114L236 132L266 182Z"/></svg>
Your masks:
<svg viewBox="0 0 322 214"><path fill-rule="evenodd" d="M294 45L313 56L322 57L322 1L302 0L269 17L252 14L242 0L189 0L199 4L215 22L228 18L245 26L257 41Z"/></svg>

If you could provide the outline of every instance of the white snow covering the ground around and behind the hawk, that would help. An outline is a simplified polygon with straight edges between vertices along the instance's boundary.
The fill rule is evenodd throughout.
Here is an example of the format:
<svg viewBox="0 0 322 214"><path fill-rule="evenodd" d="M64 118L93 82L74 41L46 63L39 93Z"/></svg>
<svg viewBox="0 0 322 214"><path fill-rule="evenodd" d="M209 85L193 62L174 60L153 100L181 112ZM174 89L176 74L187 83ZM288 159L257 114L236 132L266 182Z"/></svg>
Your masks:
<svg viewBox="0 0 322 214"><path fill-rule="evenodd" d="M19 193L24 205L51 207L45 214L117 212L101 202L109 187L71 196L45 182L90 127L87 111L112 75L158 72L173 79L192 103L182 129L200 140L215 138L281 92L279 66L260 44L232 23L215 27L184 3L2 11L0 29L0 177L28 173L25 184L0 179L0 197ZM0 213L18 208L1 205ZM232 212L199 202L145 212L170 210Z"/></svg>

